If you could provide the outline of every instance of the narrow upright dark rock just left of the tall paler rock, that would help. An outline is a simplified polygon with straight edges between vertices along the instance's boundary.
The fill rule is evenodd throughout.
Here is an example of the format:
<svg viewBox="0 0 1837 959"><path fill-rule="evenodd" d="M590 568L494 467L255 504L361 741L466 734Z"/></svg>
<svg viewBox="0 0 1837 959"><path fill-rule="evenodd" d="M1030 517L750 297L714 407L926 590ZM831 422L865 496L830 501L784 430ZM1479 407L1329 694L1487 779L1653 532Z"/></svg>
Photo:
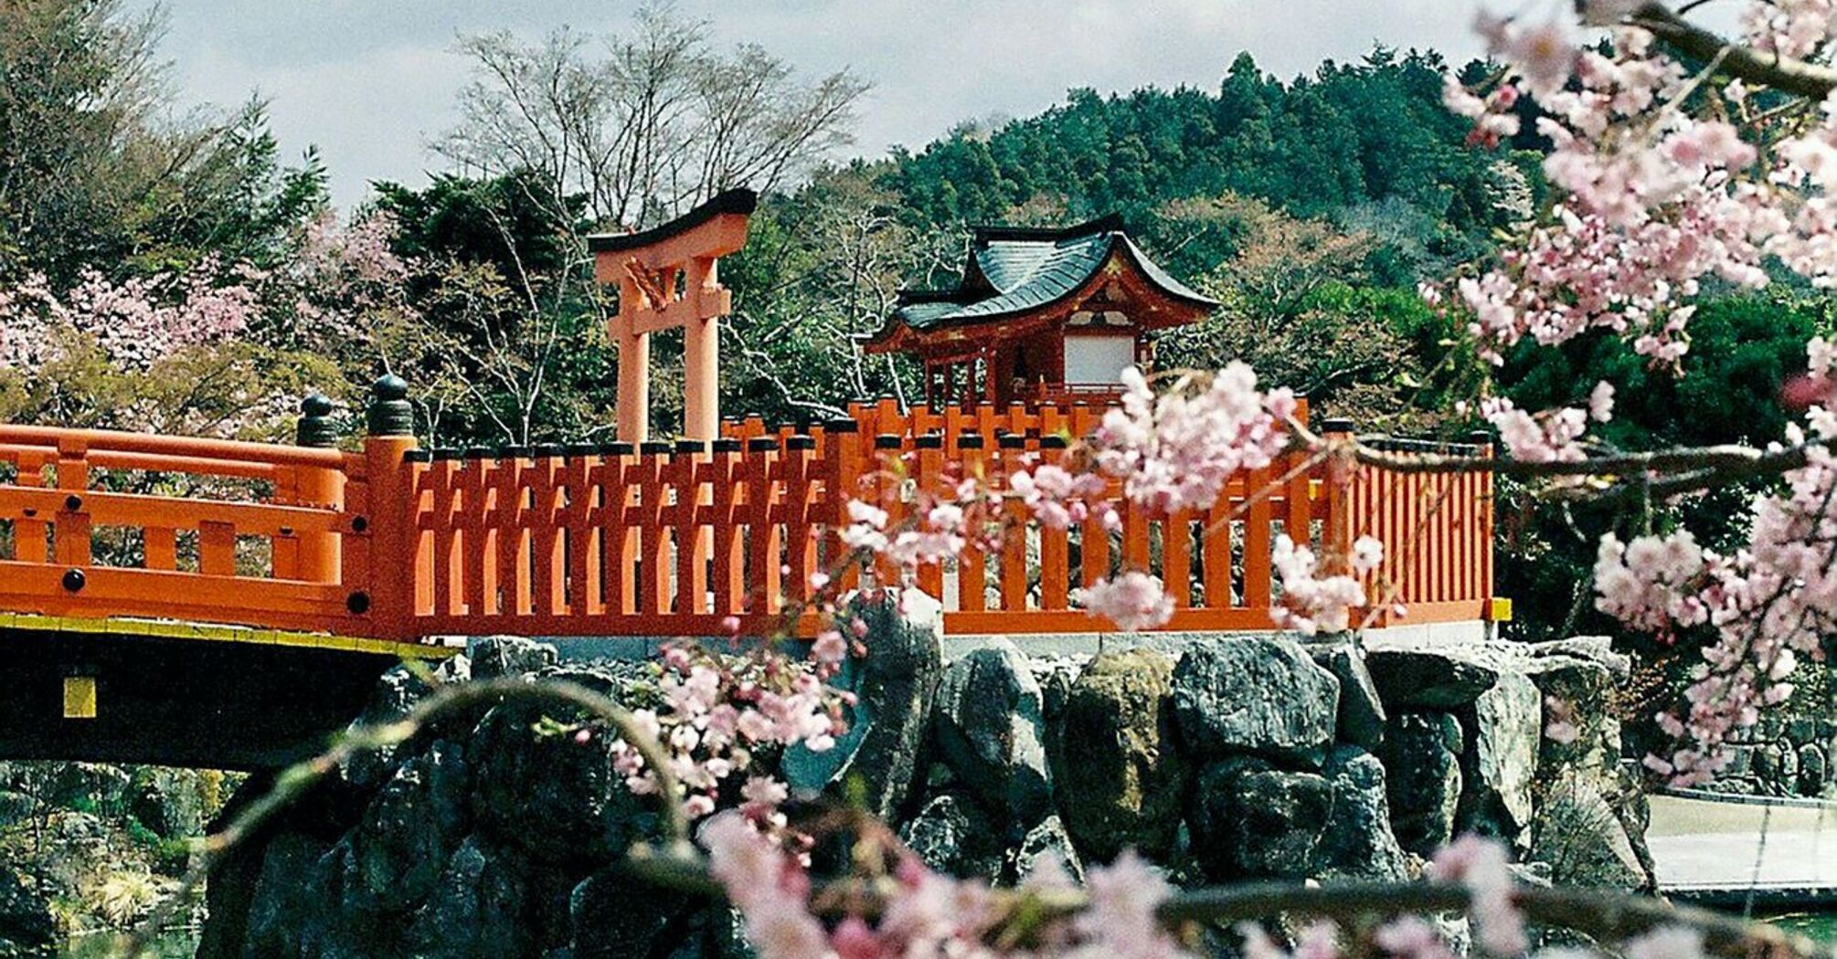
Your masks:
<svg viewBox="0 0 1837 959"><path fill-rule="evenodd" d="M1435 854L1455 834L1462 742L1451 713L1398 713L1385 729L1380 757L1391 827L1398 843L1418 856Z"/></svg>

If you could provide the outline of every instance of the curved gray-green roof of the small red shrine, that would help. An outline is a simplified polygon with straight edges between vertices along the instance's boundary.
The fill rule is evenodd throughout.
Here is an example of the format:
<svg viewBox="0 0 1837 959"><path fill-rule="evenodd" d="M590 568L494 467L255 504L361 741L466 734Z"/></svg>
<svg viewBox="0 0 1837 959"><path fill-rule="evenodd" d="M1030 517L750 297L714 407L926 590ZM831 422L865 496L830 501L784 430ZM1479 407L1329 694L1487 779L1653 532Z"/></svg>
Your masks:
<svg viewBox="0 0 1837 959"><path fill-rule="evenodd" d="M981 323L1051 307L1084 288L1113 254L1124 255L1168 299L1211 310L1218 305L1148 259L1117 217L1062 230L983 226L955 290L906 290L874 340L898 327L931 329Z"/></svg>

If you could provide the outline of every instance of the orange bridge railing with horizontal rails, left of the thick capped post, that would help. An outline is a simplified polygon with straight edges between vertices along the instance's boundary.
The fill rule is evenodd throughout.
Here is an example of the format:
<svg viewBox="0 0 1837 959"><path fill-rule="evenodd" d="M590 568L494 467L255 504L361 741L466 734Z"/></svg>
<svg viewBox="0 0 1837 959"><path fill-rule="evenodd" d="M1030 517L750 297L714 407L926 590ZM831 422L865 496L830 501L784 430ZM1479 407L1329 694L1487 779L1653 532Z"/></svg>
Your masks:
<svg viewBox="0 0 1837 959"><path fill-rule="evenodd" d="M338 450L0 426L0 610L356 630L366 505Z"/></svg>

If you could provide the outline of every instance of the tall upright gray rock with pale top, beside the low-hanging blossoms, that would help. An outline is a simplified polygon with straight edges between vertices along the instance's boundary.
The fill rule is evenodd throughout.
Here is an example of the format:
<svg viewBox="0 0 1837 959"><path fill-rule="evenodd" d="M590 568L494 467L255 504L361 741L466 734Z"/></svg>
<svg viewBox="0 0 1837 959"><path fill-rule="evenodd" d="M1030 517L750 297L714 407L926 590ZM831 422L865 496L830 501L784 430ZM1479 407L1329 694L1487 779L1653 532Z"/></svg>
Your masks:
<svg viewBox="0 0 1837 959"><path fill-rule="evenodd" d="M924 593L907 593L902 603L856 593L845 608L867 623L867 656L847 660L830 682L856 694L849 731L821 753L792 746L784 751L783 772L799 794L828 790L832 797L847 795L867 812L893 819L924 757L944 672L941 606Z"/></svg>

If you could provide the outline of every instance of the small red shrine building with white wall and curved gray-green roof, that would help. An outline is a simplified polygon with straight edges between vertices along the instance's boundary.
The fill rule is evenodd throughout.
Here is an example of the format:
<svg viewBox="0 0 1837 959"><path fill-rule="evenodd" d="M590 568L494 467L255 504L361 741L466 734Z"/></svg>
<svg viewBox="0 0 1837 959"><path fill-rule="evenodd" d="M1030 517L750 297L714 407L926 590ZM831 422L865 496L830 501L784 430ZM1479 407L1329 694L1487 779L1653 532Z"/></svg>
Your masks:
<svg viewBox="0 0 1837 959"><path fill-rule="evenodd" d="M1150 331L1218 307L1155 266L1108 215L1058 230L977 226L953 290L902 290L867 353L924 364L931 408L1111 401Z"/></svg>

